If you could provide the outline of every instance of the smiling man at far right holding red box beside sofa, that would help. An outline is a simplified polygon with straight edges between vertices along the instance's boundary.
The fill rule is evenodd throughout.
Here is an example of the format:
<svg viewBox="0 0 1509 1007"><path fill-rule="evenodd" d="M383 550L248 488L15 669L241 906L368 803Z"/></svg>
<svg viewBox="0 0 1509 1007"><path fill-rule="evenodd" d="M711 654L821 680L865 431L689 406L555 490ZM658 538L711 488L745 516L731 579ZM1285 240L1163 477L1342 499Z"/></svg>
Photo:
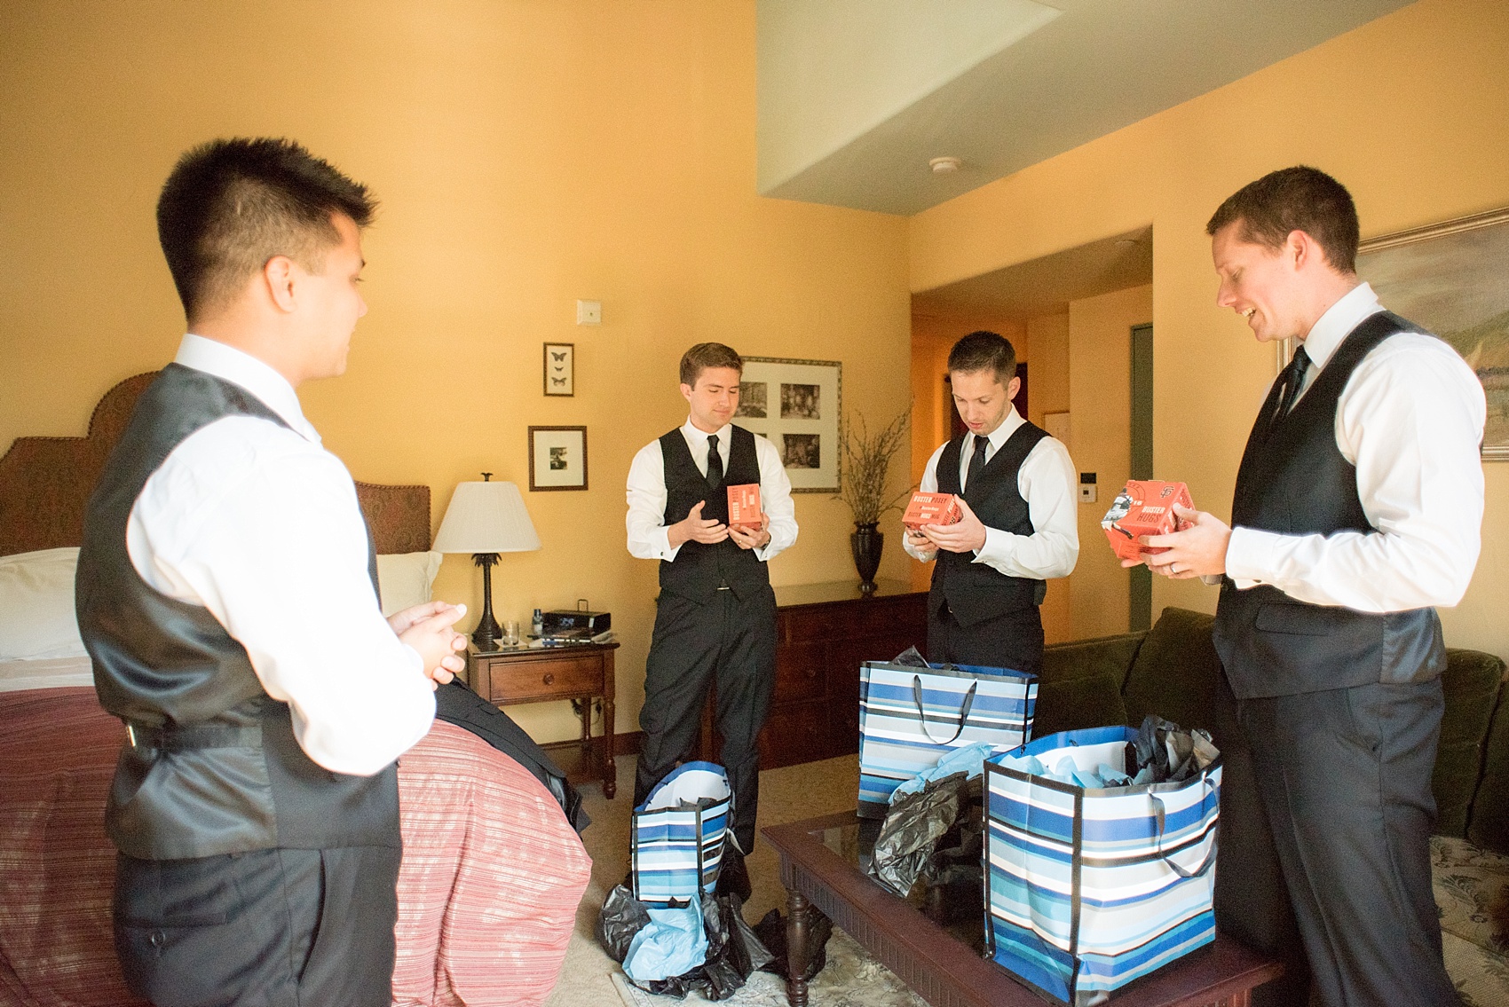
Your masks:
<svg viewBox="0 0 1509 1007"><path fill-rule="evenodd" d="M1215 644L1322 1001L1456 1004L1431 895L1434 606L1477 562L1483 390L1358 282L1357 210L1329 175L1272 172L1207 232L1216 301L1301 347L1248 437L1231 526L1186 511L1147 562L1219 579Z"/></svg>

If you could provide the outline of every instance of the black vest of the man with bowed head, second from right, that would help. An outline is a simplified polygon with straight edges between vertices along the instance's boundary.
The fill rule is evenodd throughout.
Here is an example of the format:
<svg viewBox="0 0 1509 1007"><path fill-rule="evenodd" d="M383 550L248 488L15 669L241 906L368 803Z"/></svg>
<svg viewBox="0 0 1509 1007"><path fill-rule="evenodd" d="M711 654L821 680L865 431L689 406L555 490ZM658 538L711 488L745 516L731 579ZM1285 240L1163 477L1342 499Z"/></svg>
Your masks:
<svg viewBox="0 0 1509 1007"><path fill-rule="evenodd" d="M958 457L967 436L966 431L943 446L937 464L939 493L958 493ZM1041 427L1022 424L969 481L964 502L987 528L999 528L1013 535L1031 535L1037 531L1032 528L1028 502L1017 488L1017 473L1044 437L1047 431ZM1043 580L1008 577L973 559L975 555L969 552L939 550L933 567L933 594L928 598L931 611L940 611L943 601L948 601L960 626L973 626L1043 603Z"/></svg>

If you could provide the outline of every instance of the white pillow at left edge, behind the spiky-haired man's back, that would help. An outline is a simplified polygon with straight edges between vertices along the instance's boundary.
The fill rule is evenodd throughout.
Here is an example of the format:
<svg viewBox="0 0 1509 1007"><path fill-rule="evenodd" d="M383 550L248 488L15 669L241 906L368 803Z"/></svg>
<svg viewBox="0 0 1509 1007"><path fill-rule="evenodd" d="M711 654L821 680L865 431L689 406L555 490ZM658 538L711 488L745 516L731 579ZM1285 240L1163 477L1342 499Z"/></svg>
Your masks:
<svg viewBox="0 0 1509 1007"><path fill-rule="evenodd" d="M74 547L0 556L0 660L83 657Z"/></svg>

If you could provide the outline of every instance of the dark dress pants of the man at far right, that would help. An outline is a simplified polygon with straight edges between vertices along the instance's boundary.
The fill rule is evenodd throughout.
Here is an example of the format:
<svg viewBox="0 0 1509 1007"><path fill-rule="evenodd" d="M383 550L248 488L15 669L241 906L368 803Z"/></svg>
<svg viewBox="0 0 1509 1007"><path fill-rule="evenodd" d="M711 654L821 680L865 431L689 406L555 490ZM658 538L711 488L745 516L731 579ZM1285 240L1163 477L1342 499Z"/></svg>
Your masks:
<svg viewBox="0 0 1509 1007"><path fill-rule="evenodd" d="M1326 1007L1459 1004L1431 892L1441 710L1440 681L1237 704Z"/></svg>

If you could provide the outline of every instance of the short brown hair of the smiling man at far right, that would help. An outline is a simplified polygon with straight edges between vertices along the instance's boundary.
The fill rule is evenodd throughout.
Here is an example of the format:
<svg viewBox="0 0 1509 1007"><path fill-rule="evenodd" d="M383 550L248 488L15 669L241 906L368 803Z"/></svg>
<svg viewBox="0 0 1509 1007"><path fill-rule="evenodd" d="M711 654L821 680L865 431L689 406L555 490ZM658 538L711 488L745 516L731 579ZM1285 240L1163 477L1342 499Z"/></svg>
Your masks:
<svg viewBox="0 0 1509 1007"><path fill-rule="evenodd" d="M1242 225L1237 234L1243 241L1275 252L1290 232L1304 231L1325 252L1331 268L1357 271L1357 205L1342 182L1319 169L1299 164L1248 182L1221 204L1206 234L1215 237L1231 223Z"/></svg>

